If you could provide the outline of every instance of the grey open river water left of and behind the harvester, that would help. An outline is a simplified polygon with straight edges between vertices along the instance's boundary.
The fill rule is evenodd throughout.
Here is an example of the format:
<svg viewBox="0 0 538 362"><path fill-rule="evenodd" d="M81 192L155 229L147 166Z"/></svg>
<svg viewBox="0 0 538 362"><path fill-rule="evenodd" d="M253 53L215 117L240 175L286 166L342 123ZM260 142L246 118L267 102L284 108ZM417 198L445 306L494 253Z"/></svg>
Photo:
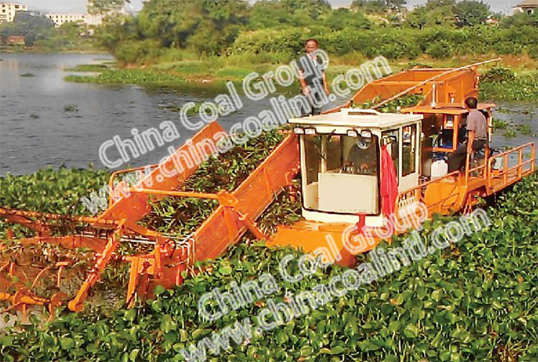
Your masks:
<svg viewBox="0 0 538 362"><path fill-rule="evenodd" d="M132 128L143 131L171 120L181 138L131 159L129 164L142 166L159 162L168 154L168 147L181 145L194 133L181 126L179 113L165 107L181 106L188 101L213 101L219 93L208 85L173 89L64 81L64 77L74 74L65 69L113 60L109 55L21 53L0 57L0 175L28 174L47 165L61 164L86 167L93 163L103 168L98 156L103 142L114 135L125 140L132 137ZM33 74L33 77L21 77L23 74ZM248 116L272 109L268 98L251 101L241 96L243 108L219 118L219 123L229 129ZM337 99L331 106L344 101ZM538 107L501 106L503 112L496 111L497 118L509 124L528 123L532 135L520 132L511 138L496 135L493 147L536 142ZM111 159L113 156L110 154Z"/></svg>

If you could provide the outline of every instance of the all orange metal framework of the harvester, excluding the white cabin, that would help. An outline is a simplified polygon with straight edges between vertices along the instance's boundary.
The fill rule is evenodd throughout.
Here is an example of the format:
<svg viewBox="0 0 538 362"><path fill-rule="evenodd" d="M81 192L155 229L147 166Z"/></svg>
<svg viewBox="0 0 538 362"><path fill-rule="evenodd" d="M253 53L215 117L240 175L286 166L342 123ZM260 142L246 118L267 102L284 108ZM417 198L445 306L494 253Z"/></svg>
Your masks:
<svg viewBox="0 0 538 362"><path fill-rule="evenodd" d="M430 104L438 113L447 107L462 104L468 96L476 96L479 75L477 64L457 69L411 69L394 74L384 79L372 81L361 89L346 106L351 103L364 103L385 98L387 101L409 92L425 95L423 103ZM382 102L384 103L384 102ZM379 104L382 104L379 103ZM379 106L379 105L377 105ZM345 106L343 106L345 107ZM343 108L340 107L340 108ZM329 112L340 111L336 108ZM420 113L420 109L413 111ZM6 261L0 265L0 300L11 302L9 309L26 312L28 305L43 305L54 310L67 302L69 310L78 312L84 308L84 300L92 286L99 280L101 273L113 259L130 264L130 278L127 285L127 304L133 305L136 295L140 299L151 297L156 285L171 288L183 283L183 272L194 273L195 261L214 259L227 249L229 244L238 242L247 230L258 239L268 240L269 247L292 245L304 251L326 247L333 259L339 264L352 265L355 258L343 249L342 235L349 226L343 223L309 222L302 220L294 225L277 228L273 236L263 234L256 226L255 220L275 198L282 188L290 186L299 171L299 143L297 136L287 133L265 161L256 168L248 178L228 193L192 193L178 191L178 188L198 168L198 165L185 166L180 174L166 177L168 171L176 167L176 159L185 152L197 147L202 157L209 157L215 152L207 140L217 141L226 132L217 124L210 123L198 134L179 147L164 163L146 167L115 171L110 176L110 200L108 209L96 217L55 215L30 211L0 208L0 217L11 223L23 225L35 235L19 242L23 245L55 244L64 249L73 250L89 248L94 253L93 267L86 273L86 278L76 295L71 300L64 293L56 293L51 298L42 298L33 290L47 273L55 273L57 285L62 280L62 271L72 261L59 261L55 265L33 267L25 270L18 260ZM529 157L525 155L530 154ZM515 157L515 164L510 158ZM528 159L527 159L528 158ZM503 167L494 167L497 159ZM536 149L533 144L522 145L502 154L486 155L485 163L467 166L463 173L454 172L441 179L420 183L418 186L402 191L396 198L396 210L410 200L423 200L428 210L437 213L466 210L476 203L477 196L496 193L522 177L535 171ZM134 187L116 182L121 174L151 169L151 173L140 180ZM154 198L207 198L217 200L219 206L210 217L198 227L193 234L184 239L173 239L155 230L139 225L139 221L151 211L150 196ZM360 218L364 224L364 217ZM55 222L70 225L74 232L57 234L52 232ZM13 232L8 229L8 239ZM147 254L122 256L117 249L124 242L144 242L153 249ZM375 244L367 245L364 251Z"/></svg>

